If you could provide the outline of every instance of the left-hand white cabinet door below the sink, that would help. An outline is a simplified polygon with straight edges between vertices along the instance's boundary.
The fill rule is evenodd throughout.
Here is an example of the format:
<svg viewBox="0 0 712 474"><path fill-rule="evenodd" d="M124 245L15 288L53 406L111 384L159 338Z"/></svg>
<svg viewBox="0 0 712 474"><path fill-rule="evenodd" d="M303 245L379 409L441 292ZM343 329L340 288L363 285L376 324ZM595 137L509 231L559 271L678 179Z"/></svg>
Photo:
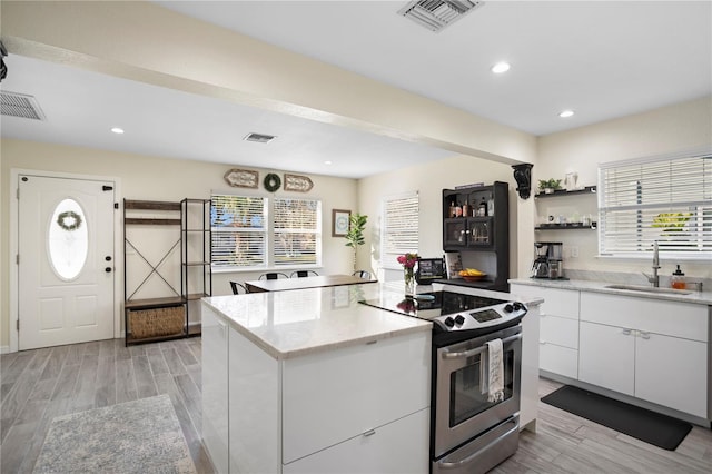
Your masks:
<svg viewBox="0 0 712 474"><path fill-rule="evenodd" d="M633 332L581 322L578 379L632 396L634 362Z"/></svg>

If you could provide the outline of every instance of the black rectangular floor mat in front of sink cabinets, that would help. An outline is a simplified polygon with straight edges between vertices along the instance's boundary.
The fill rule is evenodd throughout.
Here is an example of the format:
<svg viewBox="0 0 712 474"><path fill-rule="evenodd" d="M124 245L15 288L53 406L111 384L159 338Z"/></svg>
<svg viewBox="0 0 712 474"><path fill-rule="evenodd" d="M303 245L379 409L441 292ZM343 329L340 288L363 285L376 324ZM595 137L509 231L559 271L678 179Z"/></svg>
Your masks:
<svg viewBox="0 0 712 474"><path fill-rule="evenodd" d="M552 392L542 402L663 450L674 451L692 429L690 423L572 385Z"/></svg>

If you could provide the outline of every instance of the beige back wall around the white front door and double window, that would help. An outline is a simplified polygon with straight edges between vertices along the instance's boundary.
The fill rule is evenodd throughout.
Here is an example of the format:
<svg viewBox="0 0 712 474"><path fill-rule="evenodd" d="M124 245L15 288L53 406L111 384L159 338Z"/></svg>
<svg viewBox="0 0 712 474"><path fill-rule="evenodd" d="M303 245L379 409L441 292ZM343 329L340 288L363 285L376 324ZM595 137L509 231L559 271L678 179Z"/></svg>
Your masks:
<svg viewBox="0 0 712 474"><path fill-rule="evenodd" d="M228 192L257 192L267 195L264 189L246 190L229 187L222 176L230 168L226 165L215 165L188 160L171 160L116 154L88 148L67 147L60 145L37 144L20 140L3 139L1 154L1 196L0 216L2 216L2 234L0 241L1 261L11 261L10 231L16 229L16 223L10 223L10 206L17 203L12 196L17 184L10 182L12 169L56 171L65 174L95 175L116 177L120 180L121 201L128 199L172 200L184 197L208 198L211 190ZM251 168L250 168L251 169ZM259 170L260 177L266 170ZM273 171L273 170L269 170ZM332 209L357 208L357 182L355 179L334 178L312 175L314 188L308 194L277 191L276 196L295 196L322 199L323 211L323 269L319 273L344 274L352 271L350 249L345 246L343 238L332 237ZM120 211L118 211L120 214ZM118 233L122 234L120 219ZM116 249L117 278L122 282L122 247ZM12 265L2 265L0 282L2 282L0 330L1 346L9 345L9 276L14 270ZM229 279L245 280L256 278L259 273L228 273L216 274L214 278L214 294L229 294ZM123 295L119 296L119 302Z"/></svg>

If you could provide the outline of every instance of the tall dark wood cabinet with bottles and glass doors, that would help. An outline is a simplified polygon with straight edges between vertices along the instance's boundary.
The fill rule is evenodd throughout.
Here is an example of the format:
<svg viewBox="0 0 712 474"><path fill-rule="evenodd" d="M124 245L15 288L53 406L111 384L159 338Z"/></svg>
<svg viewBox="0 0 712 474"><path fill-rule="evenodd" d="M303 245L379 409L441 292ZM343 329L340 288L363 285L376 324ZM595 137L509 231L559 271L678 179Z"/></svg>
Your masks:
<svg viewBox="0 0 712 474"><path fill-rule="evenodd" d="M451 278L447 283L508 290L508 184L443 189L443 250L459 253L464 268L487 276L479 282Z"/></svg>

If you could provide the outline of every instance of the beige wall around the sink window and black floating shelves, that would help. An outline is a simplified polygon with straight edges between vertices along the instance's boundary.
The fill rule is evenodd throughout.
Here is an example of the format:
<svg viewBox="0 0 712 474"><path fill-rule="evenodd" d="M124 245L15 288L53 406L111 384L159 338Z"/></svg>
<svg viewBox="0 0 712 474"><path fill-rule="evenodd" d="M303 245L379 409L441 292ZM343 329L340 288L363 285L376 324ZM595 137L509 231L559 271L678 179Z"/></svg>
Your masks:
<svg viewBox="0 0 712 474"><path fill-rule="evenodd" d="M567 171L577 171L583 185L595 185L600 162L620 161L646 156L679 152L701 146L712 147L712 97L704 97L644 113L616 120L552 134L538 139L537 166L534 180L564 178ZM567 203L562 199L568 199ZM595 205L592 198L538 199L540 213L560 206L566 215L574 207ZM595 211L595 207L594 207ZM557 210L554 210L556 214ZM595 231L546 230L536 236L541 240L564 243L565 268L599 271L649 271L647 260L621 260L597 257ZM571 257L571 247L578 247L578 258ZM568 254L568 255L566 255ZM662 260L661 275L670 275L675 261ZM712 265L682 261L685 274L691 277L712 277Z"/></svg>

